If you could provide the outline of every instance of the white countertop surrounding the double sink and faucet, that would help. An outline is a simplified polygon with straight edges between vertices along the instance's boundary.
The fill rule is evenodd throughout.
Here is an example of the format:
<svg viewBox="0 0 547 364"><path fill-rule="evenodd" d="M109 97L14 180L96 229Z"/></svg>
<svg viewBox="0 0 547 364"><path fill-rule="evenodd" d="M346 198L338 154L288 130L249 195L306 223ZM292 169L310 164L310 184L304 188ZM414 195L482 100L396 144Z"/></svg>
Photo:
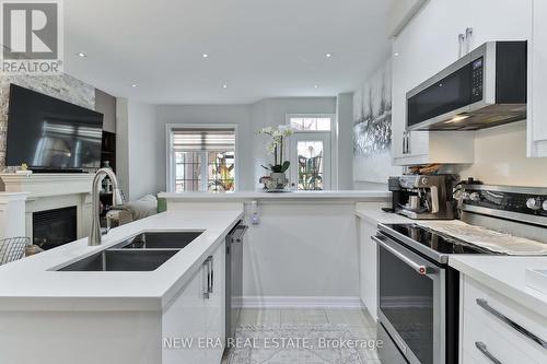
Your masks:
<svg viewBox="0 0 547 364"><path fill-rule="evenodd" d="M167 211L112 230L101 246L88 238L0 266L0 310L161 310L243 216L243 204L218 211ZM154 271L55 271L144 231L203 231Z"/></svg>

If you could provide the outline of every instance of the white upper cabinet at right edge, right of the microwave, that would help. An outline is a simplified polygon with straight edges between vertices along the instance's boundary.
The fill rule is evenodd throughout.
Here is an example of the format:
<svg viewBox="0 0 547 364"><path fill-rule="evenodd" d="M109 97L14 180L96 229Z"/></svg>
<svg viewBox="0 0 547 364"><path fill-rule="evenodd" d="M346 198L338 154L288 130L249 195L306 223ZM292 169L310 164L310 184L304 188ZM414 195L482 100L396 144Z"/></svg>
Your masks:
<svg viewBox="0 0 547 364"><path fill-rule="evenodd" d="M528 156L547 156L547 1L533 1L528 44Z"/></svg>

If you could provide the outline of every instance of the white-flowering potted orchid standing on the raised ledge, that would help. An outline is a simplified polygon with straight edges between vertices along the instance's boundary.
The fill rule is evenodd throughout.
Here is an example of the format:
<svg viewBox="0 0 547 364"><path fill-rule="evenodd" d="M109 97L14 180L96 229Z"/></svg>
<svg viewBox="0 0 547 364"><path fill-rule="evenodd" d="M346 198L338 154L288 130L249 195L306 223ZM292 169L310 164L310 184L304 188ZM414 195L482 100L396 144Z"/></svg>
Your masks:
<svg viewBox="0 0 547 364"><path fill-rule="evenodd" d="M270 172L270 180L268 189L281 190L284 189L289 179L284 173L289 169L291 163L289 161L283 161L283 143L287 138L292 136L294 131L286 126L280 125L277 128L267 127L258 131L258 134L268 136L270 141L267 145L267 151L269 154L274 155L274 164L268 166L263 165L263 168Z"/></svg>

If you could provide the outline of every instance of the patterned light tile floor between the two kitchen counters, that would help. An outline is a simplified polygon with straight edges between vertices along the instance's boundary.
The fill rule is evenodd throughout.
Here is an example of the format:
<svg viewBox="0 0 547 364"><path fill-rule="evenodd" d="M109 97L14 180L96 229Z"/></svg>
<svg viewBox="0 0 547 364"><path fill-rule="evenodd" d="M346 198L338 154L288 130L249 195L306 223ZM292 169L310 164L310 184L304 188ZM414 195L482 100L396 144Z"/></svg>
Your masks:
<svg viewBox="0 0 547 364"><path fill-rule="evenodd" d="M376 324L363 309L255 309L240 312L240 337L277 336L322 337L323 334L350 337L357 340L375 340ZM372 349L357 351L278 350L275 354L260 349L233 349L223 364L381 364Z"/></svg>

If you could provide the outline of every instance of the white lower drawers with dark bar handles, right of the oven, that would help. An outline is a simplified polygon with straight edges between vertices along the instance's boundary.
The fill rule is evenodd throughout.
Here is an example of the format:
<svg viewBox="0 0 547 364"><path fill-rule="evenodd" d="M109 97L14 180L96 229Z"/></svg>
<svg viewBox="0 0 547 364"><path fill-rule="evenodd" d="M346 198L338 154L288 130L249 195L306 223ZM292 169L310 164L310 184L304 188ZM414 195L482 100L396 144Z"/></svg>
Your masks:
<svg viewBox="0 0 547 364"><path fill-rule="evenodd" d="M547 318L462 277L461 363L547 363ZM527 332L526 332L527 331Z"/></svg>

